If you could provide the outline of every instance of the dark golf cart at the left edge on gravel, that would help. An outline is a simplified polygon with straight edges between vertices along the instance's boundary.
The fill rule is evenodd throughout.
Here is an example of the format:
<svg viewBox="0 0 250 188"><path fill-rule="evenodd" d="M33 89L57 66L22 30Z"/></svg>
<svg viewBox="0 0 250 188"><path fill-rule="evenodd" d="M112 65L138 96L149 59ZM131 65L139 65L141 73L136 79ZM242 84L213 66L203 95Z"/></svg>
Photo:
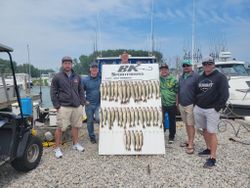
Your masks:
<svg viewBox="0 0 250 188"><path fill-rule="evenodd" d="M0 44L0 52L8 54L20 115L0 111L0 166L11 163L17 171L27 172L37 167L43 147L41 140L32 134L32 124L23 114L20 93L15 77L11 53L13 49Z"/></svg>

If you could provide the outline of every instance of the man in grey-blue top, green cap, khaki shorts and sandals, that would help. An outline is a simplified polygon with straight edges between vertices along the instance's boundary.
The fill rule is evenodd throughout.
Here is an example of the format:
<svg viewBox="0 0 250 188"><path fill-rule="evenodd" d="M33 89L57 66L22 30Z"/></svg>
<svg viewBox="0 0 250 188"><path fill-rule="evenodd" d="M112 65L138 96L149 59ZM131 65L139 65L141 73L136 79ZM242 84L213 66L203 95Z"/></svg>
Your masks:
<svg viewBox="0 0 250 188"><path fill-rule="evenodd" d="M198 73L192 69L191 60L182 61L183 73L179 78L178 102L182 121L186 125L188 141L182 146L186 146L186 153L194 153L194 103L195 103L195 87L198 81Z"/></svg>

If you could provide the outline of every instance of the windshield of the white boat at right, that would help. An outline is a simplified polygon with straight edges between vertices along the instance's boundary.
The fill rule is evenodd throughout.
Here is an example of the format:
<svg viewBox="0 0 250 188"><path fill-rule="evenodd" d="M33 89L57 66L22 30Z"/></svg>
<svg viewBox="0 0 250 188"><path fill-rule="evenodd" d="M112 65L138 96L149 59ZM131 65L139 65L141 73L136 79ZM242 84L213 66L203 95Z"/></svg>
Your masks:
<svg viewBox="0 0 250 188"><path fill-rule="evenodd" d="M243 64L216 65L217 69L227 76L249 76Z"/></svg>

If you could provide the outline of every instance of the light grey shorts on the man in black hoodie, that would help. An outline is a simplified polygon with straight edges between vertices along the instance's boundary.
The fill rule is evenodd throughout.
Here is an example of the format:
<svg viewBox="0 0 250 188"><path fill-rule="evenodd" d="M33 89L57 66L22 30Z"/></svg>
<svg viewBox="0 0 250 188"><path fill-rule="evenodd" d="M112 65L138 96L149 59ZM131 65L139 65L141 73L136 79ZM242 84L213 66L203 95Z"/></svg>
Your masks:
<svg viewBox="0 0 250 188"><path fill-rule="evenodd" d="M196 128L207 129L209 133L218 132L218 124L220 121L220 113L216 112L214 108L200 108L194 107L194 118Z"/></svg>

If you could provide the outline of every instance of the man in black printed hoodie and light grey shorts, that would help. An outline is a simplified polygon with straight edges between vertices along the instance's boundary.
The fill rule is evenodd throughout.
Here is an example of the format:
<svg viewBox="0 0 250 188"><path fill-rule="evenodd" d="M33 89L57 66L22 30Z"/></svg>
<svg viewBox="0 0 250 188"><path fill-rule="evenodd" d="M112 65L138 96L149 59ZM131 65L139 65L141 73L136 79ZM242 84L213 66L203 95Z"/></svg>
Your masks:
<svg viewBox="0 0 250 188"><path fill-rule="evenodd" d="M203 74L199 76L196 84L196 99L194 118L196 128L203 129L203 137L207 149L201 151L199 156L210 156L204 168L211 168L216 163L219 111L225 107L229 97L229 86L224 74L215 69L214 59L207 57L202 61Z"/></svg>

